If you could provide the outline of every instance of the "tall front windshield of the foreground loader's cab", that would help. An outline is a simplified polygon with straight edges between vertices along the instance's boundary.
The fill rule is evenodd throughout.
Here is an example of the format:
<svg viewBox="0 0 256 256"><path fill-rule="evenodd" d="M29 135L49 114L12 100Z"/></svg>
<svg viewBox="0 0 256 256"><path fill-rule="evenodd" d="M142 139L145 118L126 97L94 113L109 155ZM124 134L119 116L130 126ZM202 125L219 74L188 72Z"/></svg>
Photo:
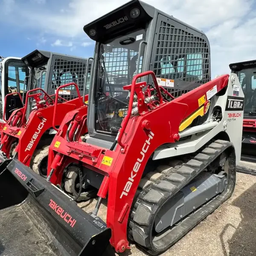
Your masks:
<svg viewBox="0 0 256 256"><path fill-rule="evenodd" d="M113 134L121 127L129 102L128 91L123 90L123 86L131 84L137 65L139 72L142 70L144 44L138 61L142 40L145 40L143 29L99 45L95 93L95 125L98 132Z"/></svg>

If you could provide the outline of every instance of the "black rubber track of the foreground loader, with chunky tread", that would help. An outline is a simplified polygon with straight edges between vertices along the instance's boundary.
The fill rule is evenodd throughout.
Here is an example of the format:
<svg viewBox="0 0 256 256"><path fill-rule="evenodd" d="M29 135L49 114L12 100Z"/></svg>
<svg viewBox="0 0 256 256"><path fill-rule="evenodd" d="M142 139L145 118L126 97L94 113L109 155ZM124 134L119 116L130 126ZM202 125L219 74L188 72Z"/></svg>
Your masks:
<svg viewBox="0 0 256 256"><path fill-rule="evenodd" d="M179 225L160 233L158 238L152 236L154 219L160 208L198 174L210 168L209 165L224 151L228 160L228 183L224 192L197 209L194 214L183 218ZM140 182L130 212L128 237L152 255L167 250L230 198L235 183L236 158L233 144L224 140L216 140L181 160L172 160L169 166L158 166L156 172L149 173Z"/></svg>

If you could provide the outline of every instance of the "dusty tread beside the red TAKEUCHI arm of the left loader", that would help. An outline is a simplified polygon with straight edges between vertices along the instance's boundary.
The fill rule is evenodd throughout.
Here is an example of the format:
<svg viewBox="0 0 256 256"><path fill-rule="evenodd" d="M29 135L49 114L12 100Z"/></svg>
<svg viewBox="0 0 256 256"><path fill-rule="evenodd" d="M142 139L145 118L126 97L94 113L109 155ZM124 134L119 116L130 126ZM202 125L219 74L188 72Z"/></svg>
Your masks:
<svg viewBox="0 0 256 256"><path fill-rule="evenodd" d="M44 145L38 148L32 157L32 170L45 179L47 178L49 147L49 145Z"/></svg>

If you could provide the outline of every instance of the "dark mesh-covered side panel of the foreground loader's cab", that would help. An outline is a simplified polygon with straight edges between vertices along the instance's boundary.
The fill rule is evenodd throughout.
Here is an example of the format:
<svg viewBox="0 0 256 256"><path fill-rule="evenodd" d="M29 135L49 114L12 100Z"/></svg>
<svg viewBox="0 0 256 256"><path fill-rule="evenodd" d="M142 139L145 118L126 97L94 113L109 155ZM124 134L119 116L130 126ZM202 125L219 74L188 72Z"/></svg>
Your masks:
<svg viewBox="0 0 256 256"><path fill-rule="evenodd" d="M175 97L210 80L207 37L170 17L158 14L151 70L174 82L164 86Z"/></svg>

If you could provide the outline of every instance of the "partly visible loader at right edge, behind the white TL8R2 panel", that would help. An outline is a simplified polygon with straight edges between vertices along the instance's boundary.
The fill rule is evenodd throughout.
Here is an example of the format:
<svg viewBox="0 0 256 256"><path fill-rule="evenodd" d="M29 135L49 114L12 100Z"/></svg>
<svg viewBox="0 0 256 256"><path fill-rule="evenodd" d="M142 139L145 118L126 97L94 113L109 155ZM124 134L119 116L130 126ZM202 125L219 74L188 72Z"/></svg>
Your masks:
<svg viewBox="0 0 256 256"><path fill-rule="evenodd" d="M256 175L256 60L230 64L244 92L244 121L239 172ZM236 93L238 87L234 89Z"/></svg>

